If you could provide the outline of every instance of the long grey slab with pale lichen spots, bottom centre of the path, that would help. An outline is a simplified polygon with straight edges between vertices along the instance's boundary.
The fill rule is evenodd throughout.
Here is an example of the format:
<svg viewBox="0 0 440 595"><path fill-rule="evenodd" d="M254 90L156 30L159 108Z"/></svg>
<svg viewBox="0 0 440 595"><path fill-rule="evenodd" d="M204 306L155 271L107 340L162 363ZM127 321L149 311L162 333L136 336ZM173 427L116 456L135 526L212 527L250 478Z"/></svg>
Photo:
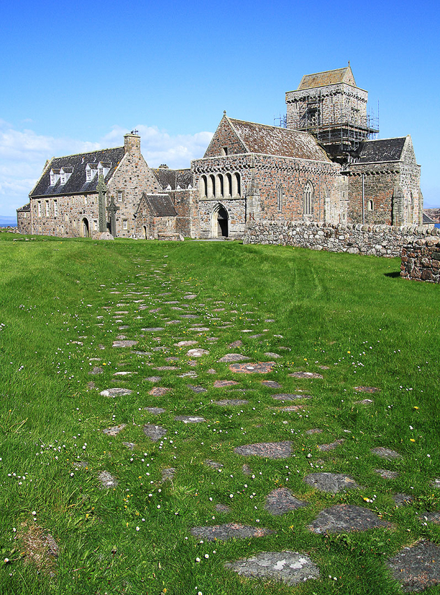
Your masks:
<svg viewBox="0 0 440 595"><path fill-rule="evenodd" d="M288 585L297 585L306 580L320 578L316 564L306 554L292 551L262 552L225 567L248 578L273 578Z"/></svg>

